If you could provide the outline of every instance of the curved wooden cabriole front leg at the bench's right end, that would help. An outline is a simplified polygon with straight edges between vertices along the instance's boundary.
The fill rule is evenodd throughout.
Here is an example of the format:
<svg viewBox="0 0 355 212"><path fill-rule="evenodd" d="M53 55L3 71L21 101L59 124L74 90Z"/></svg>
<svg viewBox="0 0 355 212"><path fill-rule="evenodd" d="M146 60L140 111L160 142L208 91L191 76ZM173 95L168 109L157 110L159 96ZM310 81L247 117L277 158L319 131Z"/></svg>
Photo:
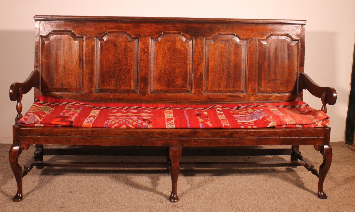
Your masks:
<svg viewBox="0 0 355 212"><path fill-rule="evenodd" d="M323 163L319 167L318 198L327 199L327 195L323 191L323 183L332 164L332 147L330 145L316 145L314 147L323 155Z"/></svg>

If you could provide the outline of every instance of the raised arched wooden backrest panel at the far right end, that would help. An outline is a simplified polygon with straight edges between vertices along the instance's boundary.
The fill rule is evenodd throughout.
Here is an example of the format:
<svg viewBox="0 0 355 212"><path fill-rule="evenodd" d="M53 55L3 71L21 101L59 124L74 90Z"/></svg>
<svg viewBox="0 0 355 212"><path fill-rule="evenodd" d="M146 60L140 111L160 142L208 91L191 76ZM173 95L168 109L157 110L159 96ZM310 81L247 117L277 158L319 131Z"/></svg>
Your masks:
<svg viewBox="0 0 355 212"><path fill-rule="evenodd" d="M297 93L299 41L288 35L259 40L258 93Z"/></svg>

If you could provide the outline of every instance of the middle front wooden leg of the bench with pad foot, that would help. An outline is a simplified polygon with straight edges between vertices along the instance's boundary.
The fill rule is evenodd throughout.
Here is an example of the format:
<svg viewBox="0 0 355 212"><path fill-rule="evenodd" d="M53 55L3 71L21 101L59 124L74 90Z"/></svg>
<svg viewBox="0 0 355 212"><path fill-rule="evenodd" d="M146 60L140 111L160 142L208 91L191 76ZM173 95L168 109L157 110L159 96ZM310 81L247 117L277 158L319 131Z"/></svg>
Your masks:
<svg viewBox="0 0 355 212"><path fill-rule="evenodd" d="M169 197L170 202L178 202L179 197L176 193L178 186L178 176L180 173L180 159L181 159L181 147L169 147L169 157L171 160L170 176L171 176L171 194Z"/></svg>

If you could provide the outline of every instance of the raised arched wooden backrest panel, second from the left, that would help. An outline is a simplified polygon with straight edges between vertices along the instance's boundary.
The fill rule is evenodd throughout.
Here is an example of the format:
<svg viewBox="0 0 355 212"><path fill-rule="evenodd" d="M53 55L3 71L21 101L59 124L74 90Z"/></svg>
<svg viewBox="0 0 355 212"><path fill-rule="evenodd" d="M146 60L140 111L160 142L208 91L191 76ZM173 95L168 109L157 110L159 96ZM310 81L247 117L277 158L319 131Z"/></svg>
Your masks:
<svg viewBox="0 0 355 212"><path fill-rule="evenodd" d="M96 38L96 92L137 93L138 38L108 32Z"/></svg>

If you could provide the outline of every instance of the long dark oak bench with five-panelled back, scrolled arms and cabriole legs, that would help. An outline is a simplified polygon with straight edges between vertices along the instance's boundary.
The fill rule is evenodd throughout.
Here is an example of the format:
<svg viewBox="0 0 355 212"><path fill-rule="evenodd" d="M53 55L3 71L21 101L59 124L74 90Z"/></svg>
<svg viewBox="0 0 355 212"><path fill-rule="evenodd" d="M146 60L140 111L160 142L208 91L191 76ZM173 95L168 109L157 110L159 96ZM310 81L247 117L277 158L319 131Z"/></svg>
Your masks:
<svg viewBox="0 0 355 212"><path fill-rule="evenodd" d="M176 188L180 167L304 166L319 178L318 197L327 199L323 182L332 161L327 124L313 128L200 125L191 129L177 128L169 122L163 129L143 125L139 125L141 128L24 125L21 123L26 121L20 121L33 118L38 121L33 123L41 123L45 119L36 116L33 112L36 108L32 107L29 110L32 112L28 112L31 117L28 113L22 115L22 95L33 87L35 98L67 99L67 102L69 99L71 103L89 106L277 105L302 101L303 90L308 90L321 98L322 108L318 112L326 116L326 106L335 104L336 92L334 88L317 85L304 74L306 21L101 16L35 16L34 19L35 70L26 81L10 87L10 99L17 101L9 153L17 182L13 201L22 200L22 178L33 166L168 168L171 202L179 201ZM44 105L43 99L36 102ZM221 107L220 111L224 106ZM170 117L165 115L166 119ZM253 120L246 122L250 124ZM87 123L85 126L91 126L91 122ZM34 156L22 169L18 156L31 144L35 145ZM46 148L52 144L81 147ZM255 147L261 145L285 148ZM301 155L300 145L313 145L323 155L319 172ZM159 155L166 156L166 161L58 162L43 161L45 155ZM290 161L180 163L182 155L290 155Z"/></svg>

